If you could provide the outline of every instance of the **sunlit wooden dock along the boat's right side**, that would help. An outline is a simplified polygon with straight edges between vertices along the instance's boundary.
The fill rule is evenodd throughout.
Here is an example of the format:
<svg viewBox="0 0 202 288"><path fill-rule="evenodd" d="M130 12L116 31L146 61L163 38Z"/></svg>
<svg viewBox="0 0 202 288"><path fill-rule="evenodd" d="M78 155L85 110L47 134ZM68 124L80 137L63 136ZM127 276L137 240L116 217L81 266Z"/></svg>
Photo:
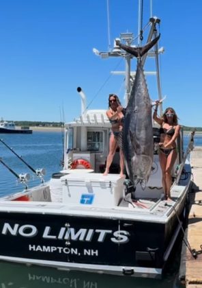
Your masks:
<svg viewBox="0 0 202 288"><path fill-rule="evenodd" d="M188 288L202 288L202 147L194 147L190 157L193 178L184 236L190 249L183 242L179 280Z"/></svg>

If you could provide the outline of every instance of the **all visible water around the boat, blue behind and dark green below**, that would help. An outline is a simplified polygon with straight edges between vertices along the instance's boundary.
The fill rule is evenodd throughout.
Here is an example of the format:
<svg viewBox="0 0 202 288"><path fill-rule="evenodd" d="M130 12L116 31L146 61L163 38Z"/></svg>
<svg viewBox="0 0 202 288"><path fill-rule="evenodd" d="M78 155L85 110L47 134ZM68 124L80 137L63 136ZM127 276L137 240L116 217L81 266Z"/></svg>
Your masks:
<svg viewBox="0 0 202 288"><path fill-rule="evenodd" d="M63 153L61 132L33 132L33 134L1 134L14 152L33 169L44 167L48 180L52 173L61 169L60 161ZM188 145L188 135L184 136L184 147ZM194 145L202 146L202 135L194 137ZM12 152L0 143L0 156L2 160L16 173L33 173ZM8 195L21 191L23 184L16 184L16 177L0 163L0 195ZM34 178L29 182L29 187L40 184L40 179ZM16 248L17 249L17 248ZM167 265L167 272L162 280L128 278L126 276L106 276L84 272L68 272L48 267L35 267L14 263L0 262L0 288L134 288L134 287L182 287L178 281L179 255L181 241L176 243L171 261Z"/></svg>

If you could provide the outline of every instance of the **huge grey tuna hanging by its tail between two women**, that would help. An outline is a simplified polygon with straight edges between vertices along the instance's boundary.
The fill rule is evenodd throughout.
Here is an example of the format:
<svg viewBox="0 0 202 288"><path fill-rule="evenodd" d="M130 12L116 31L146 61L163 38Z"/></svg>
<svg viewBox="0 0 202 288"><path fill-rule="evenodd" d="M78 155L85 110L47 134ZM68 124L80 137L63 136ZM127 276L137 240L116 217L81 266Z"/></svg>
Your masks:
<svg viewBox="0 0 202 288"><path fill-rule="evenodd" d="M143 47L117 45L136 56L136 76L126 107L124 120L124 158L133 186L140 183L145 189L153 163L152 104L147 89L141 57L158 41L160 35Z"/></svg>

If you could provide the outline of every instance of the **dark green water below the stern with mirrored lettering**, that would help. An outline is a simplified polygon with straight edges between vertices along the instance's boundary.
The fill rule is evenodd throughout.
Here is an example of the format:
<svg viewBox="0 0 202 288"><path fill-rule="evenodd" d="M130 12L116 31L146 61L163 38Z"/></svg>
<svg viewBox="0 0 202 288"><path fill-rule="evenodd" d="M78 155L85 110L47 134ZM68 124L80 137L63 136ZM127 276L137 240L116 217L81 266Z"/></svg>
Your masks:
<svg viewBox="0 0 202 288"><path fill-rule="evenodd" d="M134 287L179 287L175 278L164 280L129 278L85 272L57 270L49 267L27 266L14 263L0 263L0 288L134 288Z"/></svg>

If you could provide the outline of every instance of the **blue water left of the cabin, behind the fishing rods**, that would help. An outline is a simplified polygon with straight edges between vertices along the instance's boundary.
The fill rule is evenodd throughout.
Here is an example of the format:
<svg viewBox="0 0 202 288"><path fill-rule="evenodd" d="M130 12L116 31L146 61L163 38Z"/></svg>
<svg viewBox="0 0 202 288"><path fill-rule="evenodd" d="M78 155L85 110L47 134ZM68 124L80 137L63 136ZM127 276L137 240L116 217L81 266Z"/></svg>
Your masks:
<svg viewBox="0 0 202 288"><path fill-rule="evenodd" d="M1 139L34 170L45 168L44 180L51 178L53 172L61 169L63 155L61 132L33 132L33 134L1 134ZM31 180L28 186L40 184L40 178L19 159L3 143L0 143L0 157L15 173L29 173ZM12 194L25 188L16 176L0 163L0 196Z"/></svg>

